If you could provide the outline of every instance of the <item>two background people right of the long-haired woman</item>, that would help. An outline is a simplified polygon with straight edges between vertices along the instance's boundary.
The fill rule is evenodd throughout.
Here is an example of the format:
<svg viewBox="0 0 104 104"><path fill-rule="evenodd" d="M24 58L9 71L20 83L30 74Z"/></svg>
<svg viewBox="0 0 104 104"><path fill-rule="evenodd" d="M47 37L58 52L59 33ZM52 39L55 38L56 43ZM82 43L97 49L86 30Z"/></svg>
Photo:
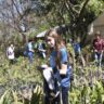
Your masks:
<svg viewBox="0 0 104 104"><path fill-rule="evenodd" d="M81 52L81 47L78 40L69 40L70 47L73 48L74 58L76 60L76 63L80 60L81 65L86 66L86 58ZM101 36L100 31L96 31L94 34L94 39L92 40L92 43L90 46L91 50L93 52L91 53L92 62L99 67L102 67L102 60L103 60L103 51L104 51L104 39ZM72 53L72 52L70 52ZM79 60L78 60L79 58ZM79 62L80 62L79 61Z"/></svg>

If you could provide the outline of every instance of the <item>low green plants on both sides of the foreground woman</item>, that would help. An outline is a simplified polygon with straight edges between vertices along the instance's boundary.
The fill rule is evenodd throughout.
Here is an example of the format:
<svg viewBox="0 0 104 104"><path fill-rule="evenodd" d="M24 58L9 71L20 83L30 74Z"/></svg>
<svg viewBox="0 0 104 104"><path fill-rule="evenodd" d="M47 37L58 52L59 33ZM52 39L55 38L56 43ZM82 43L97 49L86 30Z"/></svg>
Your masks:
<svg viewBox="0 0 104 104"><path fill-rule="evenodd" d="M42 104L40 98L42 93L42 76L37 66L46 63L46 61L36 54L32 65L28 65L28 60L24 56L20 56L16 61L13 65L9 65L9 61L4 55L0 55L0 94L4 95L4 92L8 91L6 93L10 92L8 95L11 95L11 93L15 98L23 95L26 100L29 99L29 101L26 103L26 100L16 99L15 101L12 96L12 99L6 96L8 100L12 100L10 102L16 103L0 104ZM89 63L86 67L76 65L76 69L73 70L72 75L74 78L70 80L69 104L104 104L103 68L98 68L93 63ZM34 93L29 93L31 92L29 89L32 89L32 87ZM29 96L28 93L32 96ZM38 98L37 100L35 99L36 96ZM32 103L32 100L36 100L37 103ZM21 103L17 103L18 101Z"/></svg>

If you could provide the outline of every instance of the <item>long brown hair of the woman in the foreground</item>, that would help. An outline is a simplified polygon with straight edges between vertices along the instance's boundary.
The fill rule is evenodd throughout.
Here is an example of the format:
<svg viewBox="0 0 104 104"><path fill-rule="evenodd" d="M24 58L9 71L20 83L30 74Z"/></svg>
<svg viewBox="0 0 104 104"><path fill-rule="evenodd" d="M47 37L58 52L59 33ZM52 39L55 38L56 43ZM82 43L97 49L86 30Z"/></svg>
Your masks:
<svg viewBox="0 0 104 104"><path fill-rule="evenodd" d="M62 39L61 35L57 34L56 29L50 29L47 31L46 36L44 36L44 39L47 39L48 37L52 37L54 38L55 40L55 47L54 47L54 50L56 52L56 58L55 58L55 63L56 63L56 66L58 68L61 68L61 54L60 54L60 49L65 47L65 42L64 40ZM51 50L49 50L50 52Z"/></svg>

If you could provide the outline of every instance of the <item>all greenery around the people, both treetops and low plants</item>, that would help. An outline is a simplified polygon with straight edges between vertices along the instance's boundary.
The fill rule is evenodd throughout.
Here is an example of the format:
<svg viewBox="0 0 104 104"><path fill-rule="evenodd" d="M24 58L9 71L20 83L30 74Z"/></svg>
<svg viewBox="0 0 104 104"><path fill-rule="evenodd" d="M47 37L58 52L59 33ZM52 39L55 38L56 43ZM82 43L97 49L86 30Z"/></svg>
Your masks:
<svg viewBox="0 0 104 104"><path fill-rule="evenodd" d="M46 61L35 53L29 66L21 54L29 37L65 25L63 38L80 38L83 43L89 24L103 10L104 0L0 0L0 104L42 104L42 76L37 66ZM13 65L4 54L10 42L20 53ZM89 55L91 50L82 52ZM73 64L69 103L104 104L104 66L96 67L91 58L84 67Z"/></svg>

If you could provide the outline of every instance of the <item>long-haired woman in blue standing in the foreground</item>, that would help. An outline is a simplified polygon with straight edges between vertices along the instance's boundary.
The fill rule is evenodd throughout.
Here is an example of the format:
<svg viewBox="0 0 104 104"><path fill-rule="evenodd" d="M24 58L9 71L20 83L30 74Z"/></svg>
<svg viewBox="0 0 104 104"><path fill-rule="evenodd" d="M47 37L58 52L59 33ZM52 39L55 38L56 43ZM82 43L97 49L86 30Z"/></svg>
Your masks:
<svg viewBox="0 0 104 104"><path fill-rule="evenodd" d="M46 41L49 46L50 61L49 65L53 70L53 75L58 75L61 82L61 92L62 92L62 102L56 104L68 104L68 88L69 88L69 65L67 51L65 47L65 42L62 40L61 36L57 34L55 29L50 29L46 34ZM44 84L46 86L46 84ZM50 91L47 89L47 93ZM44 89L44 90L46 90ZM57 93L56 93L57 94ZM44 104L50 104L50 99L47 96L44 100ZM51 104L55 104L54 101Z"/></svg>

